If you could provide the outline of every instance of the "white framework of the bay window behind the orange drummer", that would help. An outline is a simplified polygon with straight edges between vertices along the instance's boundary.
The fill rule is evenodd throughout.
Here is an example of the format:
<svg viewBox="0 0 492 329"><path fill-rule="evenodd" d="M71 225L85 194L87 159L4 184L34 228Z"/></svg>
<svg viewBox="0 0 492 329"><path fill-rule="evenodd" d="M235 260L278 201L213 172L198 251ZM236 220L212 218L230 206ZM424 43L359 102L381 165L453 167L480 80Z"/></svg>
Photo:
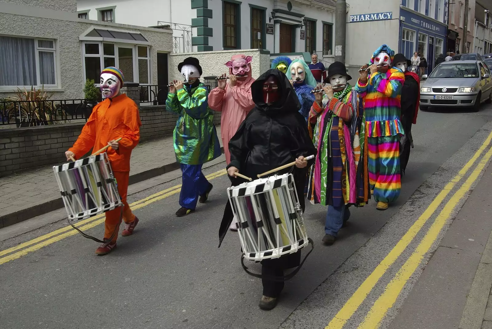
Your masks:
<svg viewBox="0 0 492 329"><path fill-rule="evenodd" d="M104 55L104 43L107 44L113 44L114 45L114 55ZM98 49L99 49L99 54L86 54L86 44L97 44ZM99 66L101 71L104 69L104 58L114 58L115 59L115 66L119 67L119 58L118 58L118 47L121 48L132 48L133 52L133 80L134 81L127 81L127 82L135 82L139 83L141 86L148 86L152 85L152 62L151 62L151 48L149 45L144 45L144 44L132 44L132 43L121 43L121 42L107 42L107 41L82 41L82 71L84 75L84 83L87 80L87 71L86 71L86 57L98 57L99 58ZM146 47L147 48L147 58L140 57L138 56L138 47ZM141 83L140 81L140 75L139 75L139 67L138 67L138 60L139 59L145 59L147 60L147 69L148 69L148 83ZM124 72L123 72L124 74ZM135 81L136 80L136 81ZM99 80L94 81L95 85L97 87L100 86Z"/></svg>

